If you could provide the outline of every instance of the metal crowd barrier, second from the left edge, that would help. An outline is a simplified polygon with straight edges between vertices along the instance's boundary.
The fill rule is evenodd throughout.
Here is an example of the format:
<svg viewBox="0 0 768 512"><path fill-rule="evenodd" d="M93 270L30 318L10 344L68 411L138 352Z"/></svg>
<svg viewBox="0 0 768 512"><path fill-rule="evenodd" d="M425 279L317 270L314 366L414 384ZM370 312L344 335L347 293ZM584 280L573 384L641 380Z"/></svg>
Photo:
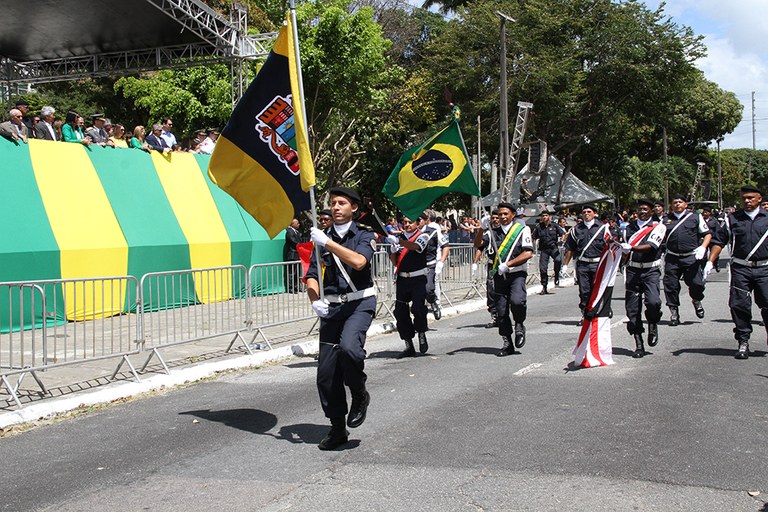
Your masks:
<svg viewBox="0 0 768 512"><path fill-rule="evenodd" d="M227 351L247 330L248 272L243 265L152 272L141 278L141 343L150 350L141 367L145 371L157 357L170 373L159 349L232 335Z"/></svg>

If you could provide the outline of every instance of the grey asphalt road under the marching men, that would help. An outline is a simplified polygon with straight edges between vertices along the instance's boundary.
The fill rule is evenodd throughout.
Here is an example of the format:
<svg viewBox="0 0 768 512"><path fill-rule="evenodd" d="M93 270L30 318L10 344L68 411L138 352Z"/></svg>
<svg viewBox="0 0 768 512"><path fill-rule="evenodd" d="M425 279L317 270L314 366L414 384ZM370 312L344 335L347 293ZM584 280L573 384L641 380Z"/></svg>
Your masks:
<svg viewBox="0 0 768 512"><path fill-rule="evenodd" d="M520 355L493 355L483 311L414 359L373 338L368 420L335 452L312 358L0 439L0 510L768 510L765 335L732 357L726 279L639 360L614 299L611 367L569 365L574 288L530 297Z"/></svg>

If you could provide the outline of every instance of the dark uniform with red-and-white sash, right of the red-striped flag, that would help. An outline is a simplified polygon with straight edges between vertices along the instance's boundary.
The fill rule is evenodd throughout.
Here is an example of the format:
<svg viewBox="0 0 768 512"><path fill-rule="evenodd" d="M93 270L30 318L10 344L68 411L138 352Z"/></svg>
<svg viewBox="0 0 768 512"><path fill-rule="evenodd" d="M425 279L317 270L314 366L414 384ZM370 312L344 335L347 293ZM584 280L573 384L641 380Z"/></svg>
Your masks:
<svg viewBox="0 0 768 512"><path fill-rule="evenodd" d="M650 232L641 233L641 229L654 226ZM627 310L627 331L629 334L642 334L643 316L641 299L645 302L645 319L649 324L658 324L661 320L661 295L659 280L661 279L661 244L664 241L666 228L663 224L651 219L641 228L637 220L627 226L627 243L630 245L650 245L649 251L632 251L626 266L626 281L624 284L624 305Z"/></svg>

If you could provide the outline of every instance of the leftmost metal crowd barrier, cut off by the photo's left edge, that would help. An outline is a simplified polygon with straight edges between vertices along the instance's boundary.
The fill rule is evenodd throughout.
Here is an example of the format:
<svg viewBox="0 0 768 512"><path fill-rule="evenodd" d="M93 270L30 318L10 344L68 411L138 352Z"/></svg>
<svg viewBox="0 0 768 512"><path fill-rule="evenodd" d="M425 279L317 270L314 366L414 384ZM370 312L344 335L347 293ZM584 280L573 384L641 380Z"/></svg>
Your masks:
<svg viewBox="0 0 768 512"><path fill-rule="evenodd" d="M39 371L84 361L119 357L111 378L128 364L138 380L139 316L126 307L137 296L132 276L0 283L0 382L14 402L27 374L47 394Z"/></svg>

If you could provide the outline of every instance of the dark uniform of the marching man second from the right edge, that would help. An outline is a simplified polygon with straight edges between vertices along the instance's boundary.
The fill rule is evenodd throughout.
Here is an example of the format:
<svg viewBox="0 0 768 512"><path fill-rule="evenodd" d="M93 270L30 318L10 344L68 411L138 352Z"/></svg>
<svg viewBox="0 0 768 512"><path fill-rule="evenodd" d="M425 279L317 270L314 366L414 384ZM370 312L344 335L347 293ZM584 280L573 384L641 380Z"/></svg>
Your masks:
<svg viewBox="0 0 768 512"><path fill-rule="evenodd" d="M704 299L704 260L697 260L694 251L701 244L701 239L709 234L709 228L701 215L691 212L684 212L680 218L670 214L664 220L664 226L667 228L664 240L664 296L667 306L674 308L673 315L676 315L680 306L681 279L688 286L694 304Z"/></svg>

